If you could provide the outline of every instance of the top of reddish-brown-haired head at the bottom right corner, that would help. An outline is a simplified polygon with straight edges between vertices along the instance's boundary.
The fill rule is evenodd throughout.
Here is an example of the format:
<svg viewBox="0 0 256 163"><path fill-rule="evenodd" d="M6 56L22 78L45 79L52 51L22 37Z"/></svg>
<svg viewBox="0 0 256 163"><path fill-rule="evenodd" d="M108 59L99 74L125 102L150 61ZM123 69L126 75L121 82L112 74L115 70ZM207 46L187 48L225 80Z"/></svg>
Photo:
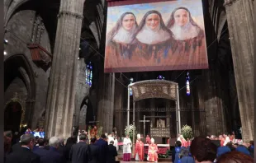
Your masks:
<svg viewBox="0 0 256 163"><path fill-rule="evenodd" d="M217 163L253 163L254 159L239 151L227 152L217 159Z"/></svg>

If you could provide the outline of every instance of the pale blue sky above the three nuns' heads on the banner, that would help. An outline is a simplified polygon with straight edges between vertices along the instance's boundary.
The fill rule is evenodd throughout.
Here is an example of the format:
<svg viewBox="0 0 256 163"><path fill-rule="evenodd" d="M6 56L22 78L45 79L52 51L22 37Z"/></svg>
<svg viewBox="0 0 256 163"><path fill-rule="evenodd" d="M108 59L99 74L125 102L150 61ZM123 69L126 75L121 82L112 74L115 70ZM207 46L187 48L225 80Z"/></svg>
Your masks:
<svg viewBox="0 0 256 163"><path fill-rule="evenodd" d="M176 7L187 7L192 14L192 17L203 25L203 13L201 0L178 0L168 2L152 2L135 5L126 5L118 7L108 7L107 10L107 30L110 30L124 12L133 12L138 23L146 12L150 10L157 10L162 14L164 22L166 22Z"/></svg>

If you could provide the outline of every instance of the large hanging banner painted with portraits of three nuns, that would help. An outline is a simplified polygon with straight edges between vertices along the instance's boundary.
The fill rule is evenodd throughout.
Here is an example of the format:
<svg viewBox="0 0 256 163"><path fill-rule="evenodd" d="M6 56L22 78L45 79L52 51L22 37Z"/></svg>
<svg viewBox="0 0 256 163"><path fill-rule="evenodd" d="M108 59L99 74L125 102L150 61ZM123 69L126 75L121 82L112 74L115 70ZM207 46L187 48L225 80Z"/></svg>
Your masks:
<svg viewBox="0 0 256 163"><path fill-rule="evenodd" d="M108 2L104 72L206 68L201 0Z"/></svg>

